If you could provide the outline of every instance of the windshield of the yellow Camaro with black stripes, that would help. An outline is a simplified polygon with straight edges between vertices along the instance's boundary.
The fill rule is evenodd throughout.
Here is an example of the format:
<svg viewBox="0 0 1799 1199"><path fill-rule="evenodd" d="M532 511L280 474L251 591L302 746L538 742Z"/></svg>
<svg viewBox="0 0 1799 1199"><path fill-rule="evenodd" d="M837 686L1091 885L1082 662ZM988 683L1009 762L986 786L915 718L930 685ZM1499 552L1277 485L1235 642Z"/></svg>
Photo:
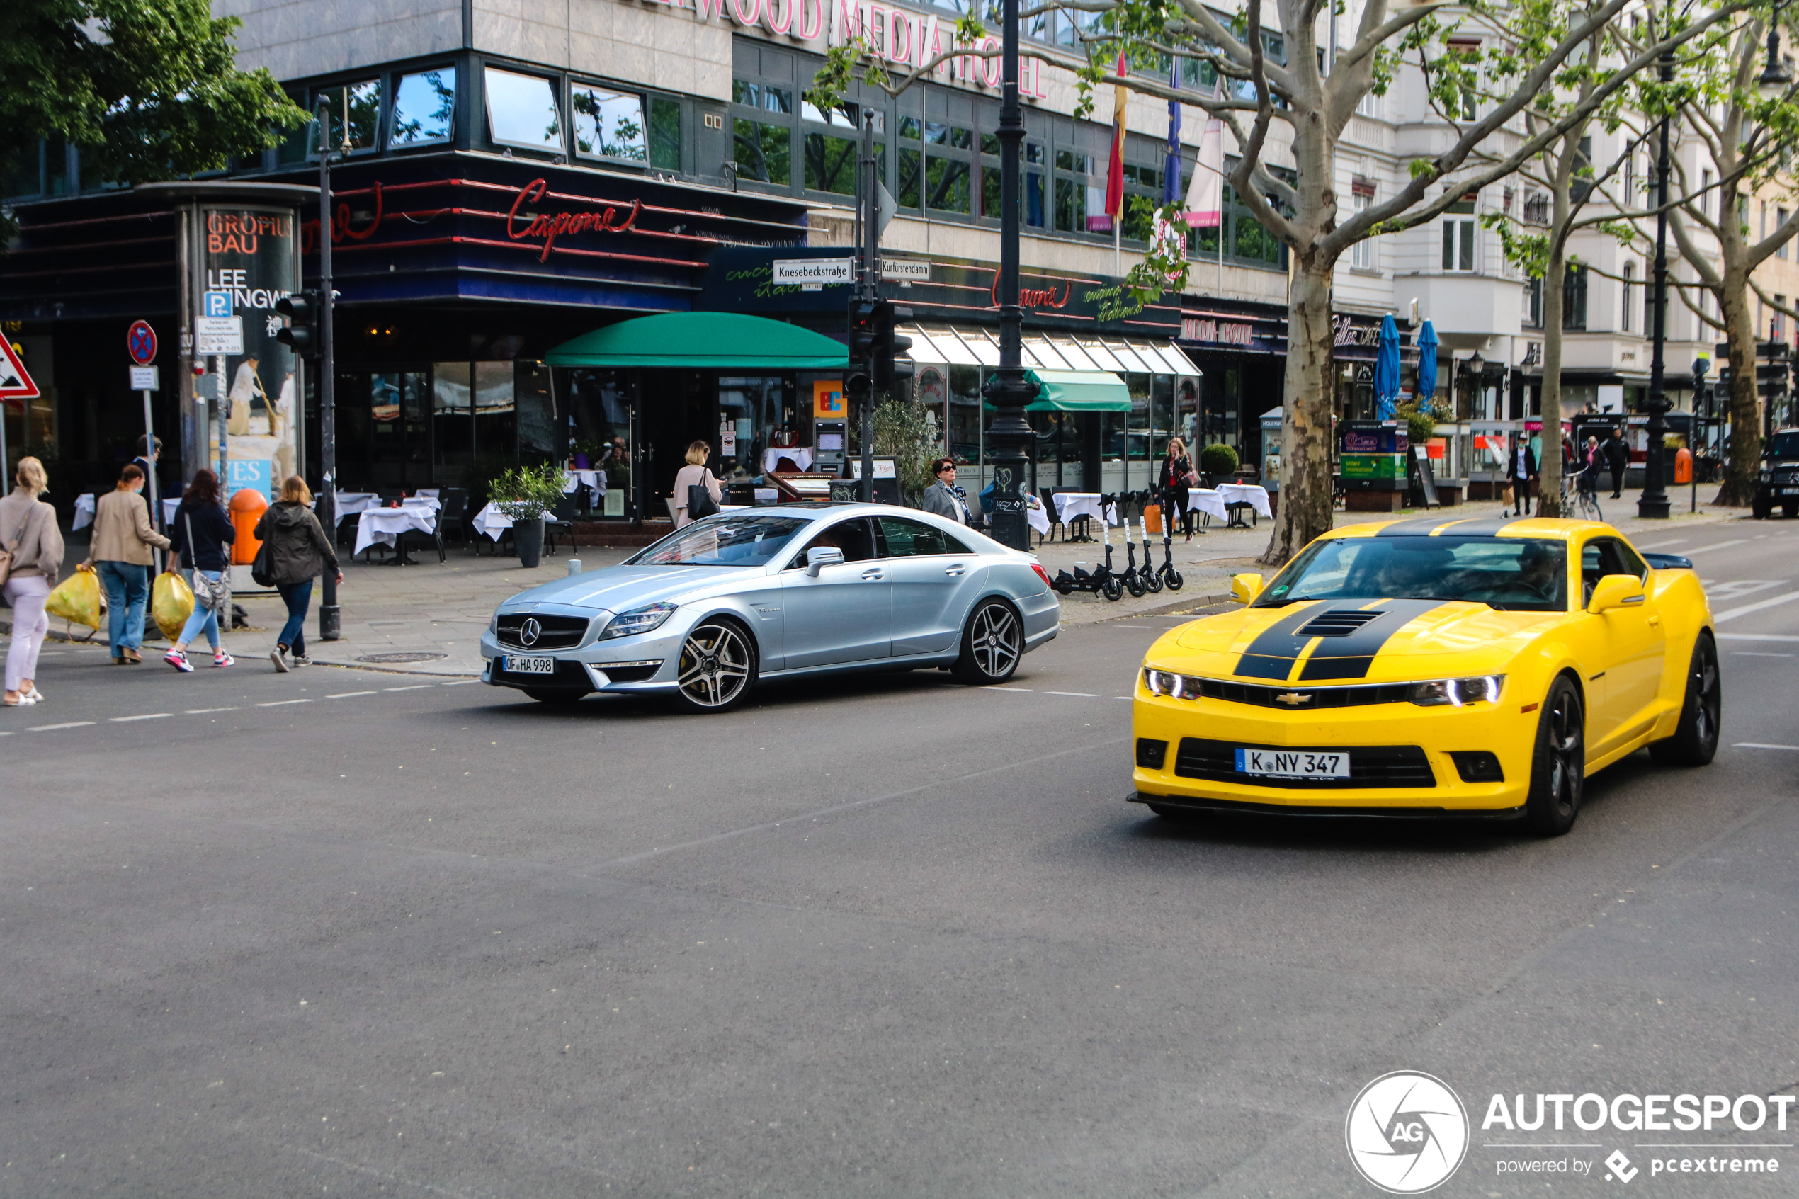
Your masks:
<svg viewBox="0 0 1799 1199"><path fill-rule="evenodd" d="M1439 599L1500 611L1567 611L1567 545L1533 537L1313 541L1256 608L1308 599Z"/></svg>

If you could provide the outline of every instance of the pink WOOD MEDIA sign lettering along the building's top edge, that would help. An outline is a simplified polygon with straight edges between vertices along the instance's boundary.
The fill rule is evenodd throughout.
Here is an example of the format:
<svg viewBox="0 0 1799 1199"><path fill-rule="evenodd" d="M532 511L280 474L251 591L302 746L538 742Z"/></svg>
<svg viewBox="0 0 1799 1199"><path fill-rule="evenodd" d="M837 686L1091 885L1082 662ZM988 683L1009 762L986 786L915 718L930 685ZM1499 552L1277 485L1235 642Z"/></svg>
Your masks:
<svg viewBox="0 0 1799 1199"><path fill-rule="evenodd" d="M756 29L795 41L849 45L858 38L894 67L919 67L939 54L953 54L937 63L941 81L968 83L977 88L1000 86L1000 59L955 54L955 50L998 50L998 38L986 36L975 45L955 41L955 16L919 13L876 0L646 0L671 9L689 9L694 20L730 20L739 29ZM1020 95L1047 97L1043 65L1029 56L1018 59Z"/></svg>

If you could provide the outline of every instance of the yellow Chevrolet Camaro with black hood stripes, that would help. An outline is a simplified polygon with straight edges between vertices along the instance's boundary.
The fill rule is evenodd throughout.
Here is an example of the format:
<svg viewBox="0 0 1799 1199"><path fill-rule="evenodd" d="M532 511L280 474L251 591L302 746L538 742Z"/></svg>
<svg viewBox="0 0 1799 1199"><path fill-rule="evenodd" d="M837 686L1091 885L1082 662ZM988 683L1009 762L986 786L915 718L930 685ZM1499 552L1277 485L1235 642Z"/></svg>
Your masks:
<svg viewBox="0 0 1799 1199"><path fill-rule="evenodd" d="M1718 649L1689 561L1610 525L1337 528L1245 608L1162 635L1137 674L1137 802L1574 823L1589 773L1718 751Z"/></svg>

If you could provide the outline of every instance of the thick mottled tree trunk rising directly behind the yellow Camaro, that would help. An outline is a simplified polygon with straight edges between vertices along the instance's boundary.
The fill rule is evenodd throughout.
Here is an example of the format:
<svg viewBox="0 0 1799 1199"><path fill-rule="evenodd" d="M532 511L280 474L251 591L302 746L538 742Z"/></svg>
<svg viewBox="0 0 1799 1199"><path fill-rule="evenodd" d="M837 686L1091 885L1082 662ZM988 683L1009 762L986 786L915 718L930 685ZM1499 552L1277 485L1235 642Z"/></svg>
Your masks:
<svg viewBox="0 0 1799 1199"><path fill-rule="evenodd" d="M1286 309L1286 404L1281 410L1281 511L1261 555L1281 566L1331 530L1331 268L1301 262Z"/></svg>

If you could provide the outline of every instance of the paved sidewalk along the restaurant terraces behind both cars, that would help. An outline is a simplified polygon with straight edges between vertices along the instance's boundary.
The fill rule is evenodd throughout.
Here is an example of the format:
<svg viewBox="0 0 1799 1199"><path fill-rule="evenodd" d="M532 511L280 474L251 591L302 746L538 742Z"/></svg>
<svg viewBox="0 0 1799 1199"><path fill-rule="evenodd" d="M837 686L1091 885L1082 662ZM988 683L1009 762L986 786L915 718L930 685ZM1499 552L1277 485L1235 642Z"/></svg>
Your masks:
<svg viewBox="0 0 1799 1199"><path fill-rule="evenodd" d="M1610 500L1601 494L1601 507L1612 523L1639 545L1653 546L1675 534L1671 530L1696 523L1714 523L1727 520L1749 520L1747 509L1711 509L1704 503L1698 512L1686 511L1686 493L1677 496L1675 512L1666 521L1644 521L1635 516L1635 494L1624 493L1623 500ZM1499 503L1468 503L1454 509L1432 509L1430 516L1441 514L1445 520L1499 516ZM1425 516L1423 511L1398 512L1400 518ZM1374 512L1337 512L1337 527L1358 525L1383 520ZM1133 530L1135 521L1133 521ZM1106 602L1099 595L1074 593L1061 599L1063 624L1094 624L1119 617L1141 617L1150 613L1182 613L1227 600L1231 597L1231 575L1256 572L1268 575L1268 568L1256 559L1268 548L1272 534L1270 521L1261 521L1252 528L1223 528L1213 525L1204 534L1195 530L1191 541L1178 534L1173 543L1175 566L1180 570L1184 586L1180 591L1162 591L1133 599L1124 595L1119 602ZM1160 564L1160 537L1151 539L1151 563ZM1112 530L1112 564L1126 564L1124 530ZM1142 563L1142 543L1135 543L1137 561ZM85 546L70 545L68 561L76 563L86 554ZM342 638L336 642L318 642L318 588L313 588L313 608L306 618L308 649L315 662L356 667L363 671L394 671L403 674L437 676L475 676L480 674L480 633L488 627L493 609L509 595L525 588L559 579L567 573L568 554L545 555L536 570L524 570L516 557L480 557L462 548L450 548L450 561L437 563L426 554L416 566L387 566L380 561L369 564L362 561L344 561L344 586L338 588L338 608L342 613ZM630 548L581 546L579 559L585 570L601 570L624 561L635 554ZM1051 541L1036 548L1038 561L1056 575L1058 570L1072 570L1076 563L1088 568L1105 561L1105 545ZM237 597L245 611L250 613L250 629L236 629L227 635L227 647L241 660L252 663L266 658L275 645L275 633L286 620L281 600L270 597ZM0 633L11 631L11 611L0 611ZM63 622L50 622L50 636L61 638ZM146 656L160 658L164 640L146 644ZM203 647L201 647L203 649ZM101 651L104 645L101 645Z"/></svg>

